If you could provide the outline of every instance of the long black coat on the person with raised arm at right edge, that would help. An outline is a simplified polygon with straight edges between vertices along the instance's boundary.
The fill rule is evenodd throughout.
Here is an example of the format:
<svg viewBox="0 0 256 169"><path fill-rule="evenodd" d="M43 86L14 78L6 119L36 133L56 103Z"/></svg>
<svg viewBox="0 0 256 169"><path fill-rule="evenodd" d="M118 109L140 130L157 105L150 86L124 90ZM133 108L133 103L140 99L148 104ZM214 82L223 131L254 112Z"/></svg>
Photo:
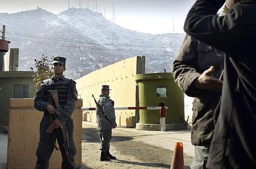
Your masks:
<svg viewBox="0 0 256 169"><path fill-rule="evenodd" d="M197 0L184 30L226 52L220 115L207 168L256 168L256 2L231 6L215 16L225 0Z"/></svg>

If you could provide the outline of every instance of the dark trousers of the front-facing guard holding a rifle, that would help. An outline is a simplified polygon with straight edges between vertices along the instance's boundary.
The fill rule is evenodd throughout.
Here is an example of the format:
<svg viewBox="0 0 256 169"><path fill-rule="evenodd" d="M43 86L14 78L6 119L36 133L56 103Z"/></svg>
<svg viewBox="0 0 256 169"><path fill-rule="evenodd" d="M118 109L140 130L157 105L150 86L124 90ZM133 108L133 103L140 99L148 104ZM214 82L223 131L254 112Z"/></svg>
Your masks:
<svg viewBox="0 0 256 169"><path fill-rule="evenodd" d="M48 169L49 160L54 150L54 144L52 141L52 134L48 133L46 129L48 128L49 123L49 116L44 115L42 121L40 123L40 141L38 143L38 149L36 151L37 161L35 169ZM62 131L60 128L54 129L53 131L53 139L54 143L56 142L56 138L58 141L58 145L60 147L61 155L62 155L62 169L74 169L75 161L74 156L76 155L76 147L74 143L74 124L72 118L70 117L66 121L66 125L68 126L68 139L69 139L69 162L66 158L66 152L64 148L64 139L62 135ZM57 146L58 147L58 146Z"/></svg>

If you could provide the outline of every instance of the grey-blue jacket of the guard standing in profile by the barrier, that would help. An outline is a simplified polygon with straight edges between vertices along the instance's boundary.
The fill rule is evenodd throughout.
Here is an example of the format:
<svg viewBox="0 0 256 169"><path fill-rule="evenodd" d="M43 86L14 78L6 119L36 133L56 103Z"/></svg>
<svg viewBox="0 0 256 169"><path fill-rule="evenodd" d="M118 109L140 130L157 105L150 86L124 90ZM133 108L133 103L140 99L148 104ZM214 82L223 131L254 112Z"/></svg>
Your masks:
<svg viewBox="0 0 256 169"><path fill-rule="evenodd" d="M102 113L100 113L100 109L98 109L98 107L96 107L96 117L97 117L99 131L105 131L108 129L112 129L112 125L116 123L115 110L114 110L114 107L113 107L112 103L110 102L109 98L110 98L109 96L101 93L98 103L100 106L102 106L103 111L106 113L106 115L108 116L108 118L110 119L110 121L112 123L111 123L111 126L108 127Z"/></svg>

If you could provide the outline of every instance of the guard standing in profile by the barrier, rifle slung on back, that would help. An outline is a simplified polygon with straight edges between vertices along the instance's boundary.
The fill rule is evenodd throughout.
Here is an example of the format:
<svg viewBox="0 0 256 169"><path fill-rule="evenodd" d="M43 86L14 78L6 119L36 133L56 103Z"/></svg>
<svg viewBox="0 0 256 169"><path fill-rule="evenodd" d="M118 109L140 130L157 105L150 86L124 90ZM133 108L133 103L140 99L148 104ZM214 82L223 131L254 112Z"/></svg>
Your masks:
<svg viewBox="0 0 256 169"><path fill-rule="evenodd" d="M116 157L112 156L109 152L110 139L112 138L112 129L116 128L114 101L110 99L110 90L111 89L109 88L109 85L102 85L98 104L102 107L104 112L101 112L101 110L96 107L96 118L98 123L98 129L100 131L101 142L100 161L109 161L110 159L116 159ZM110 127L108 127L108 124L106 123L102 113L106 113L106 115L110 119Z"/></svg>

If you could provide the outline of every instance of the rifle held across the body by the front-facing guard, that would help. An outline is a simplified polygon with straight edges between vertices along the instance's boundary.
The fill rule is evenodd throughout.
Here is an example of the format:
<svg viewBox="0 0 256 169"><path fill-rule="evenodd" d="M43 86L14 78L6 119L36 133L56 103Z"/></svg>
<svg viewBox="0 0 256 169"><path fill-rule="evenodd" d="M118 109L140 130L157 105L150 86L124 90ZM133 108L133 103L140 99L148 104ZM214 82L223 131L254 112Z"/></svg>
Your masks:
<svg viewBox="0 0 256 169"><path fill-rule="evenodd" d="M58 114L61 114L62 108L60 108L60 105L59 105L58 91L57 90L49 90L49 92L51 94L53 102L55 103L55 105L57 107ZM58 117L58 115L57 115L57 117ZM52 133L54 128L55 128L55 123L52 123L46 131L48 133ZM68 158L69 139L68 139L68 126L66 125L66 121L63 122L63 124L61 126L61 131L62 131L62 135L63 135L63 139L64 139L63 147L65 148L66 157L69 161L69 158Z"/></svg>

